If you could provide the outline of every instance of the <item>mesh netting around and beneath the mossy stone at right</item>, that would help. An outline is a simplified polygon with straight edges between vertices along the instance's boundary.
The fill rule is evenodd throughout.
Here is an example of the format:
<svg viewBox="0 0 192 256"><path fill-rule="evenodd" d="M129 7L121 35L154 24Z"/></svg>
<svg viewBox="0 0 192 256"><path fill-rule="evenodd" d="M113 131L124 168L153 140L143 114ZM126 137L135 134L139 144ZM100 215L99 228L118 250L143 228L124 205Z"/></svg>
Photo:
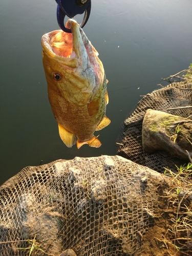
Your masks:
<svg viewBox="0 0 192 256"><path fill-rule="evenodd" d="M175 165L183 165L185 161L169 157L166 153L147 154L143 151L142 121L147 109L164 111L187 118L192 115L191 108L167 109L191 105L192 83L175 82L165 88L147 94L139 101L134 113L124 121L117 154L158 172L164 172L165 168L176 170Z"/></svg>

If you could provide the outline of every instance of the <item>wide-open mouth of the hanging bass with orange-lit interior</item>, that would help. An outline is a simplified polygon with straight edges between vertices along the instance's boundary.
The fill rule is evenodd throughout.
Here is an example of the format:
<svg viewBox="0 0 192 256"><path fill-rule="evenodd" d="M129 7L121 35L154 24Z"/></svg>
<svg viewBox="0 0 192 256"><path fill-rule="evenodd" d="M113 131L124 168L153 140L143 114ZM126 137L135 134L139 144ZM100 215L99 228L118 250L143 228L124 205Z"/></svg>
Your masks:
<svg viewBox="0 0 192 256"><path fill-rule="evenodd" d="M83 71L87 68L92 68L94 71L94 68L99 66L97 75L102 73L103 79L104 69L102 62L97 57L99 54L92 46L86 34L84 34L74 19L69 19L66 27L71 28L72 33L54 30L42 36L41 40L44 51L49 52L52 57L61 57L60 60L63 61L63 65L74 68L80 66Z"/></svg>

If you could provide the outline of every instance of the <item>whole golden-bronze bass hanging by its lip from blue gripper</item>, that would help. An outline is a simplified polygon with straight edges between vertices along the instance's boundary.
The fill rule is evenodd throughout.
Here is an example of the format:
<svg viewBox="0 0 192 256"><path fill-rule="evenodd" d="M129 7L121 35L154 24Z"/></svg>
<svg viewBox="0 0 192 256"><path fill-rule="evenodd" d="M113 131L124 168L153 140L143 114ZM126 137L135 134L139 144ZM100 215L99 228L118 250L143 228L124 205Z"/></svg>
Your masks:
<svg viewBox="0 0 192 256"><path fill-rule="evenodd" d="M72 33L54 30L41 38L49 102L66 146L100 147L94 132L111 122L105 115L108 80L98 52L79 24L69 19L66 28Z"/></svg>

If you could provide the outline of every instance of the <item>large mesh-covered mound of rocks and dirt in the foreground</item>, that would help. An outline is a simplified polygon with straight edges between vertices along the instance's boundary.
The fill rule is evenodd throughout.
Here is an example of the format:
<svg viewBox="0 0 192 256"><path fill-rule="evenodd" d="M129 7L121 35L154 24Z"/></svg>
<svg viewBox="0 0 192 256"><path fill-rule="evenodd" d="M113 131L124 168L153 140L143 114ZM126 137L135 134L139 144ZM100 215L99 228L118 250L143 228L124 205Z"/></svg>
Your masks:
<svg viewBox="0 0 192 256"><path fill-rule="evenodd" d="M0 254L167 255L167 225L178 217L170 181L120 156L28 166L0 187ZM190 208L182 182L183 195Z"/></svg>

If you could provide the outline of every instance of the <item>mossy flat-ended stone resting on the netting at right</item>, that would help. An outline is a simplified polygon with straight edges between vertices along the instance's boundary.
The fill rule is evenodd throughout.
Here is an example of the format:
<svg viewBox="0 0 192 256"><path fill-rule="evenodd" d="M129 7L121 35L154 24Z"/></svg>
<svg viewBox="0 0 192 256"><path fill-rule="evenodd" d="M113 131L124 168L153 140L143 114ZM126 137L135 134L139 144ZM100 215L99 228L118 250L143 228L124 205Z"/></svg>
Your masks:
<svg viewBox="0 0 192 256"><path fill-rule="evenodd" d="M188 159L192 155L192 120L148 109L142 123L142 145L146 153L166 152Z"/></svg>

